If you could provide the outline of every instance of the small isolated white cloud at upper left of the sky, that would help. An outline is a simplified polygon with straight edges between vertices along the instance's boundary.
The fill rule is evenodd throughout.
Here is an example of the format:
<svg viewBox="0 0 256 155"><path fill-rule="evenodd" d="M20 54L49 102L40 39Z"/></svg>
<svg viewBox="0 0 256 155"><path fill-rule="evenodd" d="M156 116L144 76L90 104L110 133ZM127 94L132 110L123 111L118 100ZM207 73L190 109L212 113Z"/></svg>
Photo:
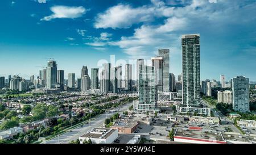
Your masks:
<svg viewBox="0 0 256 155"><path fill-rule="evenodd" d="M76 7L76 6L53 6L50 8L53 12L52 15L44 16L44 18L40 20L52 20L55 18L79 18L83 14L86 13L86 9L82 6Z"/></svg>

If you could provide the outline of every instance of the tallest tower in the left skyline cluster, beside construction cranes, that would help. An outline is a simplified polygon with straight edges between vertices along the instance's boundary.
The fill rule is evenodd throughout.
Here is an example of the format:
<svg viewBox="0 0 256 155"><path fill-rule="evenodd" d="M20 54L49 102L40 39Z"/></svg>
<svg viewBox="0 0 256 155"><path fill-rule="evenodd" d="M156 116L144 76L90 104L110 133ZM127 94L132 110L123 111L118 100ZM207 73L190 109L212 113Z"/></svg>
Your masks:
<svg viewBox="0 0 256 155"><path fill-rule="evenodd" d="M56 61L48 61L46 70L46 87L47 89L53 89L57 83L57 63Z"/></svg>

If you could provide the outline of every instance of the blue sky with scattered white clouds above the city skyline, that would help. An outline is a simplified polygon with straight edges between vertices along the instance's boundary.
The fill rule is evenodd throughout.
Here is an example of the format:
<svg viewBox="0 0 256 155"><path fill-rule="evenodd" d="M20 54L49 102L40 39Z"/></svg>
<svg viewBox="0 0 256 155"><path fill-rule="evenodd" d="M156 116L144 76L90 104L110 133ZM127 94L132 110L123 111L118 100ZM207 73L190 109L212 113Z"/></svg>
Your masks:
<svg viewBox="0 0 256 155"><path fill-rule="evenodd" d="M256 2L249 0L2 0L0 76L38 75L47 58L80 74L101 59L149 59L170 49L181 73L181 35L200 33L201 79L256 81Z"/></svg>

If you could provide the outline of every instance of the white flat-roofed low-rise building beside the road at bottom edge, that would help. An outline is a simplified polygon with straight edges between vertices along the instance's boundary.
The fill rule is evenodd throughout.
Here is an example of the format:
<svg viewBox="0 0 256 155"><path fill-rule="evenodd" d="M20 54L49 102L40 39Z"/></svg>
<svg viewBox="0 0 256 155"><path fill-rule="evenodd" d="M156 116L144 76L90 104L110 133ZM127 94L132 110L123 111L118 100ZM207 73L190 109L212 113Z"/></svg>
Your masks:
<svg viewBox="0 0 256 155"><path fill-rule="evenodd" d="M82 144L85 140L89 139L93 144L112 144L118 137L117 129L110 128L94 128L85 135L79 137L80 143Z"/></svg>

